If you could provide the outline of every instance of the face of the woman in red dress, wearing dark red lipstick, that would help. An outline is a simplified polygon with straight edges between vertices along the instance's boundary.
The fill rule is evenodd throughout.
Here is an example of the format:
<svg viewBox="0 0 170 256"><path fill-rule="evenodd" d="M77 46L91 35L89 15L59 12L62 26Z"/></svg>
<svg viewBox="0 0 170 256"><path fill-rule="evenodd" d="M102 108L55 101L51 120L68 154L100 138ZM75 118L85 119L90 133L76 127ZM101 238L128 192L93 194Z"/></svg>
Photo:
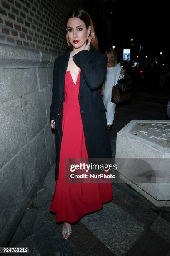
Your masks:
<svg viewBox="0 0 170 256"><path fill-rule="evenodd" d="M88 29L85 23L79 18L69 18L67 21L67 35L70 40L70 44L74 48L80 48L87 44L87 34L90 34L91 26Z"/></svg>

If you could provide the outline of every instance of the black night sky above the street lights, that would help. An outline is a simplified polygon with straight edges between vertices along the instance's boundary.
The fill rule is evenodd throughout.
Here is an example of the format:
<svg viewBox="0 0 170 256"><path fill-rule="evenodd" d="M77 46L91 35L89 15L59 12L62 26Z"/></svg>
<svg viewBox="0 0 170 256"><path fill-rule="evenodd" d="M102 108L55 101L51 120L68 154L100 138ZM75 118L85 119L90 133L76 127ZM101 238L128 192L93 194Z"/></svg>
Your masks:
<svg viewBox="0 0 170 256"><path fill-rule="evenodd" d="M144 44L148 54L169 51L170 13L167 3L164 0L158 3L117 0L105 5L107 16L111 18L112 43L126 48L132 37L135 44Z"/></svg>

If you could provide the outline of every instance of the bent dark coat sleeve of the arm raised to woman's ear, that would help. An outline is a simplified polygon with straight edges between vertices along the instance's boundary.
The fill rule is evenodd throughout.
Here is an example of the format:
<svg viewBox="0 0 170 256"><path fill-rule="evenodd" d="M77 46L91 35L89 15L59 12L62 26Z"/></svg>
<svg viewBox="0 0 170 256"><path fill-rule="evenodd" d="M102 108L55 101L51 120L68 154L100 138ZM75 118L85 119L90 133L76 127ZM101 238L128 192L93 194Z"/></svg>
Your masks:
<svg viewBox="0 0 170 256"><path fill-rule="evenodd" d="M88 87L91 90L97 89L105 78L108 61L107 56L98 53L95 66L92 60L92 54L87 50L79 51L72 59L80 67Z"/></svg>

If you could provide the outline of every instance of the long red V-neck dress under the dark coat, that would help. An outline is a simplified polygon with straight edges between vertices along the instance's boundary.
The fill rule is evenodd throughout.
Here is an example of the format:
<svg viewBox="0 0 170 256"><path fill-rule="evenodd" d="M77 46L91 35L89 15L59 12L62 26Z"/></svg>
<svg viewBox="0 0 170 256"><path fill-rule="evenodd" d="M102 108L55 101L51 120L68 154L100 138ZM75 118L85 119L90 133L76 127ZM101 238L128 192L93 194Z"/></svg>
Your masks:
<svg viewBox="0 0 170 256"><path fill-rule="evenodd" d="M65 159L88 158L78 101L80 73L81 70L76 84L70 71L65 74L59 177L50 207L52 212L57 213L57 222L73 223L83 215L101 209L103 203L113 198L111 183L65 182Z"/></svg>

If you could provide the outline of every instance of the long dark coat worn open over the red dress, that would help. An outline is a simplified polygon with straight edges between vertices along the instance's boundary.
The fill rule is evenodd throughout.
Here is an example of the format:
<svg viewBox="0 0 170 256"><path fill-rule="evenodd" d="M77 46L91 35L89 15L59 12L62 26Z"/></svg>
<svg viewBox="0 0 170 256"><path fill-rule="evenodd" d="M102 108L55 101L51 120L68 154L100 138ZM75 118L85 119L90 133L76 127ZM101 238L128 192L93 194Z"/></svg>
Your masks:
<svg viewBox="0 0 170 256"><path fill-rule="evenodd" d="M65 73L71 51L72 48L55 59L54 63L50 121L56 118L56 179L58 179L62 140L62 103L64 101ZM112 158L107 131L106 109L100 96L100 86L106 74L107 56L98 52L91 44L90 51L79 51L72 58L81 69L78 100L88 158Z"/></svg>

